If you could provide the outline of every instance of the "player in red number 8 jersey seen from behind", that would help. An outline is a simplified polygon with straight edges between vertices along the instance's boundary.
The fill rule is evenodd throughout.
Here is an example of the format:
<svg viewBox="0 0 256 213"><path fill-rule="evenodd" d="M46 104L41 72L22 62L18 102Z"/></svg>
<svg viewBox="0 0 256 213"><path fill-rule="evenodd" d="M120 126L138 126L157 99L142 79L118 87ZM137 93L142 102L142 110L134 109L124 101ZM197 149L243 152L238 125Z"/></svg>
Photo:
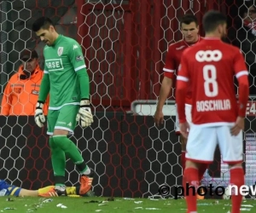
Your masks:
<svg viewBox="0 0 256 213"><path fill-rule="evenodd" d="M177 110L180 131L188 135L185 115L185 95L192 87L192 124L190 125L186 169L184 176L190 186L198 187L198 168L213 161L215 147L219 146L222 160L230 165L230 184L238 188L244 184L241 167L242 130L248 100L247 66L240 49L223 43L226 17L217 11L204 15L206 37L183 52L177 76ZM239 83L239 101L236 101L233 77ZM188 192L189 193L189 192ZM241 195L232 195L231 213L239 213ZM196 213L196 197L186 195L188 213Z"/></svg>

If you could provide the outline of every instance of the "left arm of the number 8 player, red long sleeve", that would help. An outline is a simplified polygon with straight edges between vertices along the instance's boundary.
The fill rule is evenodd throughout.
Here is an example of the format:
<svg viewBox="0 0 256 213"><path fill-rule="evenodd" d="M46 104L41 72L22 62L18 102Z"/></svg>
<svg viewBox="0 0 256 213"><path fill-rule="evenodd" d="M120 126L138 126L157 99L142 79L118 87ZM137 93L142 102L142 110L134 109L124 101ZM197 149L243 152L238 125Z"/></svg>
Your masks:
<svg viewBox="0 0 256 213"><path fill-rule="evenodd" d="M177 102L177 114L180 124L181 134L187 138L189 124L187 123L185 114L185 97L187 94L188 82L189 82L189 66L187 65L185 55L182 56L181 64L178 69L177 75L177 87L176 87L176 102Z"/></svg>

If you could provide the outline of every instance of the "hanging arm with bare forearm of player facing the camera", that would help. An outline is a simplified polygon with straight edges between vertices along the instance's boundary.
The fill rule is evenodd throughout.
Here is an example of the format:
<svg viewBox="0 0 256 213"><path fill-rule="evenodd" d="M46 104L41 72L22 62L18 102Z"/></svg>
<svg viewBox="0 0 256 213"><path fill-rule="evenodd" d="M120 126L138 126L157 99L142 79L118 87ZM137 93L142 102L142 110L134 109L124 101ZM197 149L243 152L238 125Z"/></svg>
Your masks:
<svg viewBox="0 0 256 213"><path fill-rule="evenodd" d="M159 95L156 111L154 113L154 123L157 126L159 126L160 124L163 124L163 121L164 121L163 107L172 89L172 78L175 72L175 60L174 60L172 46L170 46L168 49L168 52L166 55L166 66L164 67L163 70L164 70L164 78L160 88L160 95Z"/></svg>

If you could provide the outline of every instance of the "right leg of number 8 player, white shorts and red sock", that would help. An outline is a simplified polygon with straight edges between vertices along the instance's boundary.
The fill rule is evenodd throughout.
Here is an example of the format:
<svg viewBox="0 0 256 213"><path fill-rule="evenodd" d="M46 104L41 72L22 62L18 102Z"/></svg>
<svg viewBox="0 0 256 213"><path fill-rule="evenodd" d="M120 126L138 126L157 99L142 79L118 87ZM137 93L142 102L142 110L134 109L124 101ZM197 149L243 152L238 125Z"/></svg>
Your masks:
<svg viewBox="0 0 256 213"><path fill-rule="evenodd" d="M244 171L242 169L242 132L239 135L230 134L230 126L218 127L218 141L224 163L230 165L230 185L240 188L244 185ZM231 213L240 213L242 195L232 195Z"/></svg>

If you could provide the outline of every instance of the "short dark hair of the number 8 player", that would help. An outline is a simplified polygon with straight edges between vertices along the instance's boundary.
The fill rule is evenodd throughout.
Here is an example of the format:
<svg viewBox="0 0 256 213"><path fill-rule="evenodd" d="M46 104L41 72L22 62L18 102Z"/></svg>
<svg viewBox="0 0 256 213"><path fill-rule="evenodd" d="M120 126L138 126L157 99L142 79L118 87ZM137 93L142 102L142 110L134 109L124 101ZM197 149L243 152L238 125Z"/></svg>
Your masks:
<svg viewBox="0 0 256 213"><path fill-rule="evenodd" d="M227 17L217 10L210 10L204 15L202 22L206 33L214 32L219 25L227 23Z"/></svg>

